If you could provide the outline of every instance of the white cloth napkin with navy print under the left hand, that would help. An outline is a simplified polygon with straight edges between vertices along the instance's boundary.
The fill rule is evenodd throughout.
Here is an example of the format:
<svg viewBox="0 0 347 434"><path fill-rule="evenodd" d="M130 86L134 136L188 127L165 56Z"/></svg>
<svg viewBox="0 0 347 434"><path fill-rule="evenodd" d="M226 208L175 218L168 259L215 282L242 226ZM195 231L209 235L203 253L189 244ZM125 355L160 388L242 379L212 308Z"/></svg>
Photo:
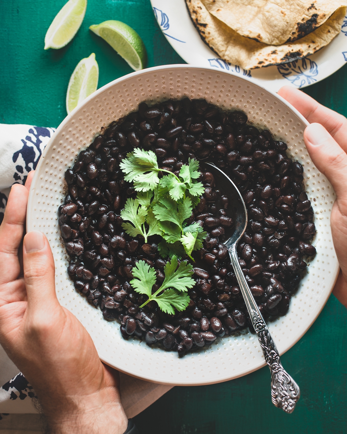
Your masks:
<svg viewBox="0 0 347 434"><path fill-rule="evenodd" d="M54 132L55 128L0 124L0 224L10 187L25 184ZM136 416L170 388L121 374L121 399L128 418ZM0 413L36 413L32 398L35 398L33 388L0 346Z"/></svg>

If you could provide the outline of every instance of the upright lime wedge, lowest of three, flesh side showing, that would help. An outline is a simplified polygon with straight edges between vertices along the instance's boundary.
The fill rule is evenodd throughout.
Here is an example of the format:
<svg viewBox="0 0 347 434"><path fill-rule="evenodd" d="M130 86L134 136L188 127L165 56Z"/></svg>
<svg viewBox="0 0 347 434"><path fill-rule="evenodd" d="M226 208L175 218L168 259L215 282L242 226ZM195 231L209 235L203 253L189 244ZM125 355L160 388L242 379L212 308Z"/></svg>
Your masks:
<svg viewBox="0 0 347 434"><path fill-rule="evenodd" d="M95 60L95 54L92 53L77 64L70 77L66 92L66 111L68 114L87 96L96 91L98 79L99 67Z"/></svg>

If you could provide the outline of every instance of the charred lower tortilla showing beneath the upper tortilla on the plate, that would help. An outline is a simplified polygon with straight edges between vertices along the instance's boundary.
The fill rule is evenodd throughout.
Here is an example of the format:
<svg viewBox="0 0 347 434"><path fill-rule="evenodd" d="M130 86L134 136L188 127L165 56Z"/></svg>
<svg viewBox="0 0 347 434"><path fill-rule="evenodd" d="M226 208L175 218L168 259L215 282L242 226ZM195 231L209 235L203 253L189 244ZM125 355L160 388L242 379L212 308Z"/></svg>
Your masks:
<svg viewBox="0 0 347 434"><path fill-rule="evenodd" d="M244 69L293 62L329 44L341 31L346 7L341 7L318 29L293 43L267 45L246 38L211 15L201 0L186 0L190 17L203 41L226 62Z"/></svg>

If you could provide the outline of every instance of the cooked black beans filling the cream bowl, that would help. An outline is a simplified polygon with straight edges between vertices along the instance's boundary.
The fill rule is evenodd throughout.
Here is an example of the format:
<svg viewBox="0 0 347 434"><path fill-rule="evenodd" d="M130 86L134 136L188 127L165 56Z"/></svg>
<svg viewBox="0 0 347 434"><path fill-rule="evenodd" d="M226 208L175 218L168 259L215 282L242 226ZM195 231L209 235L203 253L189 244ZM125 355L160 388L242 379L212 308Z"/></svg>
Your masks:
<svg viewBox="0 0 347 434"><path fill-rule="evenodd" d="M188 220L198 221L208 233L203 249L195 252L196 285L189 290L188 308L174 316L161 312L155 302L139 308L147 296L135 293L129 283L133 266L142 259L155 268L155 290L164 280L167 260L158 252L159 236L144 243L121 227L120 211L136 192L124 181L119 163L137 147L154 151L159 166L177 175L188 158L195 158L213 161L232 178L249 216L238 246L243 273L263 316L285 315L307 266L303 257L315 254L309 243L314 214L302 187L303 168L288 158L284 142L247 124L243 112L221 111L204 99L152 107L141 103L138 112L111 123L66 171L59 225L75 288L100 307L105 319L121 322L124 338L160 342L180 355L217 337L252 330L223 244L233 225L226 212L229 198L208 171L201 173L205 193Z"/></svg>

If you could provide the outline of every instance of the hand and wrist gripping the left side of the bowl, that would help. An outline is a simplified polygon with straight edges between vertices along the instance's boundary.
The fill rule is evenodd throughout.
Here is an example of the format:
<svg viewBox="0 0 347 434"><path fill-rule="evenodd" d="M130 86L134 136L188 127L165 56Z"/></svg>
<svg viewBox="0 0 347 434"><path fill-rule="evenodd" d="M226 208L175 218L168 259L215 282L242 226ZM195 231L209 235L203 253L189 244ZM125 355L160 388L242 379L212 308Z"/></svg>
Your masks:
<svg viewBox="0 0 347 434"><path fill-rule="evenodd" d="M33 173L25 186L12 186L0 226L0 343L33 386L52 433L123 434L118 372L101 363L88 332L60 306L44 234L23 240Z"/></svg>

